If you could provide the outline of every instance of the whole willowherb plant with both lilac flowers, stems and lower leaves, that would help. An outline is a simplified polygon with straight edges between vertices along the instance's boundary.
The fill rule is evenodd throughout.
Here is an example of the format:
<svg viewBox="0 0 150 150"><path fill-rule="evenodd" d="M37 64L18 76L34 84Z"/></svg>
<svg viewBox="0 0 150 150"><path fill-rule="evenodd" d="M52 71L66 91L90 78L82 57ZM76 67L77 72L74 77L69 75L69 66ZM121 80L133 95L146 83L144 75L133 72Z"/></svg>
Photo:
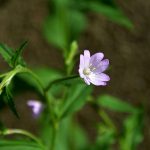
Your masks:
<svg viewBox="0 0 150 150"><path fill-rule="evenodd" d="M3 128L0 128L0 135L5 135L5 138L2 137L0 140L0 150L109 150L116 142L119 143L120 150L136 148L142 140L142 109L112 96L99 96L97 100L92 96L93 85L90 83L103 86L110 80L110 77L103 73L109 66L109 60L103 59L103 53L98 52L90 56L90 52L84 50L84 55L80 55L79 75L72 75L75 57L78 56L76 42L72 43L68 57L65 57L65 72L52 68L28 68L21 55L25 45L26 42L16 51L0 45L0 53L11 68L10 71L0 75L1 101L7 102L12 112L19 117L11 85L13 84L15 90L20 89L24 85L17 87L16 83L23 81L30 90L36 91L39 101L29 100L27 105L32 109L33 119L39 119L40 134L36 137L28 131L10 129L3 125ZM79 56L77 58L79 60ZM92 144L85 130L74 119L76 113L86 104L91 105L102 118L102 122L97 123L97 137ZM118 134L116 125L103 108L130 113L124 121L123 127L126 130L123 133ZM28 138L16 136L8 140L6 135L10 134Z"/></svg>

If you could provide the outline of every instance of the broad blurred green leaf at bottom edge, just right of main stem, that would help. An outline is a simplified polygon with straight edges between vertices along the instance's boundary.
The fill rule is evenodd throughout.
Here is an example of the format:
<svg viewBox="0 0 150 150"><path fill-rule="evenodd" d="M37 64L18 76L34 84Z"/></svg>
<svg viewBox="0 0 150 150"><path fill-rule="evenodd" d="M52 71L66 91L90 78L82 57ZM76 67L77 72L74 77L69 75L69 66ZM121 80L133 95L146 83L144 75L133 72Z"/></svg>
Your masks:
<svg viewBox="0 0 150 150"><path fill-rule="evenodd" d="M89 141L85 131L72 117L63 119L57 133L56 150L84 150L88 147Z"/></svg>

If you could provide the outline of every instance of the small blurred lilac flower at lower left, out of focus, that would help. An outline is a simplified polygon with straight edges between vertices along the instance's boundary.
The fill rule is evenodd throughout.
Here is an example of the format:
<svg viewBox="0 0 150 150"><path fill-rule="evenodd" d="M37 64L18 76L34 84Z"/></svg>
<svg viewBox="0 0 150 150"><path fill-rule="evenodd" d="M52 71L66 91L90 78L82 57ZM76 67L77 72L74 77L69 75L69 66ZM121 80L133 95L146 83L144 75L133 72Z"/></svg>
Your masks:
<svg viewBox="0 0 150 150"><path fill-rule="evenodd" d="M27 105L31 107L34 117L38 117L43 110L43 104L37 100L29 100Z"/></svg>

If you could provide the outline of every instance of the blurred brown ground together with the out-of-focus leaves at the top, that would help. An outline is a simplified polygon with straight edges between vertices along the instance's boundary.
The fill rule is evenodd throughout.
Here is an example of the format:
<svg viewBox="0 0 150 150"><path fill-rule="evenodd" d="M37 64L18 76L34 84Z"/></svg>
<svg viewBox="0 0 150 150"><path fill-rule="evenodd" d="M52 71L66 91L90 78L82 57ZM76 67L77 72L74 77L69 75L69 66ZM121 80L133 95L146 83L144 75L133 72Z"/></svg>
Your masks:
<svg viewBox="0 0 150 150"><path fill-rule="evenodd" d="M0 0L0 42L17 48L28 40L23 55L30 66L60 70L73 40L79 43L79 53L84 49L92 53L102 51L110 59L111 81L106 87L95 87L94 94L110 94L135 107L144 106L144 139L139 150L147 150L150 147L149 9L150 2L140 0ZM77 58L75 73L78 61ZM0 72L8 68L2 57L0 67ZM37 99L37 95L26 91L16 97L19 123L7 108L0 112L0 118L8 127L37 133L37 122L26 106L28 99ZM119 128L125 115L108 113ZM97 133L93 124L99 121L96 111L87 105L77 118L94 141Z"/></svg>

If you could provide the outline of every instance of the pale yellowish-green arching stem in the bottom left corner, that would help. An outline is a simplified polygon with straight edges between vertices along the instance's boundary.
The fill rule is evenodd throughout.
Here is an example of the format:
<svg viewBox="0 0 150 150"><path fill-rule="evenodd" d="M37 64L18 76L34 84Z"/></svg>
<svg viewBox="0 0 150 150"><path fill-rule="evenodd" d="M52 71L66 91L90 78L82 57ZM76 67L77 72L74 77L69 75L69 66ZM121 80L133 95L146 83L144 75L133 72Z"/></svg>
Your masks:
<svg viewBox="0 0 150 150"><path fill-rule="evenodd" d="M31 138L36 143L38 143L43 149L45 149L45 146L42 144L42 142L35 135L33 135L30 132L27 132L25 130L21 130L21 129L6 129L4 131L1 131L0 134L3 134L3 135L21 134L21 135L24 135L24 136L27 136L27 137Z"/></svg>

